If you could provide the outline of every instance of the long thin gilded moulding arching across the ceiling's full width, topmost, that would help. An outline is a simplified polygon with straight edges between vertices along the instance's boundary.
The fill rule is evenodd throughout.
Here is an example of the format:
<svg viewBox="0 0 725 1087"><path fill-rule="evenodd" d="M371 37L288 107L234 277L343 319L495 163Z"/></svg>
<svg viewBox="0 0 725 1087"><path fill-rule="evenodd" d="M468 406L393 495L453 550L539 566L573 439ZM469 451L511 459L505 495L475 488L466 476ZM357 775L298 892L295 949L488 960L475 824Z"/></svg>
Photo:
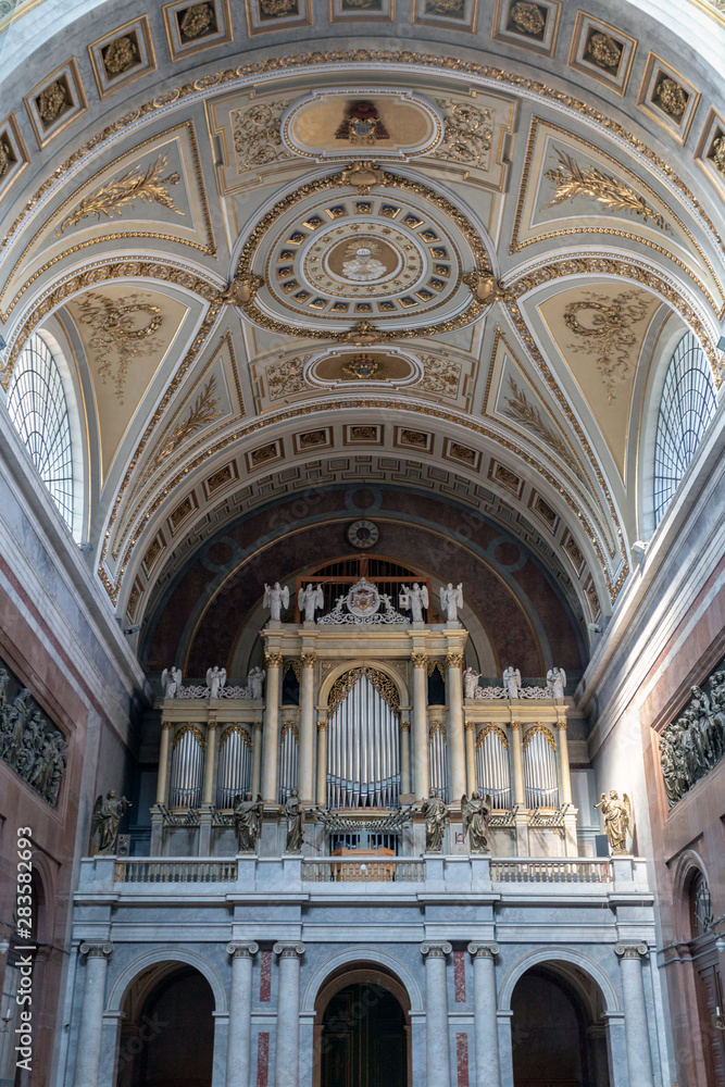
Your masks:
<svg viewBox="0 0 725 1087"><path fill-rule="evenodd" d="M690 0L698 2L698 0ZM708 0L699 0L703 4ZM440 72L454 72L458 76L468 75L472 78L490 79L507 87L510 90L524 91L540 99L543 102L555 102L559 109L572 110L580 116L586 117L592 124L602 129L602 134L612 134L618 137L625 145L642 154L659 171L666 176L679 193L695 209L703 224L710 232L714 243L721 251L725 251L725 243L715 229L712 220L704 211L695 195L689 190L685 182L673 170L668 162L662 159L652 148L635 136L624 125L614 121L611 115L601 113L593 107L588 105L578 98L563 93L558 87L549 87L538 79L528 78L515 73L507 72L504 68L493 67L489 64L478 64L476 61L463 60L461 57L446 57L440 53L415 53L412 50L387 50L387 49L336 49L328 52L314 51L309 53L298 53L290 57L268 57L262 61L252 61L248 64L240 64L236 68L226 68L211 75L202 76L199 79L190 80L183 86L170 88L148 102L137 107L132 112L118 117L112 124L107 125L82 147L77 148L73 154L61 163L39 186L36 192L29 198L24 209L18 214L10 230L5 234L0 243L0 252L8 246L18 228L22 220L29 214L37 202L45 196L48 189L55 182L65 175L68 170L75 166L80 160L91 151L98 150L103 143L116 138L117 134L124 132L143 116L151 116L159 110L166 109L172 103L178 103L185 98L196 96L199 92L217 93L218 88L225 84L236 83L238 79L254 79L266 73L279 73L292 68L301 70L309 65L346 64L360 65L363 71L367 71L372 64L377 65L418 65L424 68L437 70Z"/></svg>

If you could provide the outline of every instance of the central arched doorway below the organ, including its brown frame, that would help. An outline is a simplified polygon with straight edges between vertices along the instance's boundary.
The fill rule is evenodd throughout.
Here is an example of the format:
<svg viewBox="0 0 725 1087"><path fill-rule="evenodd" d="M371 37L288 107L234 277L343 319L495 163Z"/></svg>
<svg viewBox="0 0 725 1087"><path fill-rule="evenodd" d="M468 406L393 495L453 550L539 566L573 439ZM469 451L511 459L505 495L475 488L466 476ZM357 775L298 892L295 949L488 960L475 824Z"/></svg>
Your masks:
<svg viewBox="0 0 725 1087"><path fill-rule="evenodd" d="M410 1000L397 978L346 969L315 1010L315 1087L410 1087Z"/></svg>

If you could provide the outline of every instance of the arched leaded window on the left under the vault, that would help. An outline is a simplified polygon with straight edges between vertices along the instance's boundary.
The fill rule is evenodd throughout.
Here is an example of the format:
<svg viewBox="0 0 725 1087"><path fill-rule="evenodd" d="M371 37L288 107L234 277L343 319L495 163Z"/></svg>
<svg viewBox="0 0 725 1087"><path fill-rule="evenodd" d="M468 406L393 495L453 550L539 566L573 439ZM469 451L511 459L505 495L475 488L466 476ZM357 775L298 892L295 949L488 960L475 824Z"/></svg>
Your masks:
<svg viewBox="0 0 725 1087"><path fill-rule="evenodd" d="M65 523L77 532L68 403L53 353L37 333L13 371L8 411Z"/></svg>

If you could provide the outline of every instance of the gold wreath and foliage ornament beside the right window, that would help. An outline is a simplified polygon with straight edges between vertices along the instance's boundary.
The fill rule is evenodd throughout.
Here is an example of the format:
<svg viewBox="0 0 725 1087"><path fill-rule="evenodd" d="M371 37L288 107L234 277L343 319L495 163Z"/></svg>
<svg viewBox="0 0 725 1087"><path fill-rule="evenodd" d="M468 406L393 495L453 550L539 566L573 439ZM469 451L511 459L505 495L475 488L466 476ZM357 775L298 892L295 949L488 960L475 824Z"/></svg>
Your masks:
<svg viewBox="0 0 725 1087"><path fill-rule="evenodd" d="M653 303L654 299L641 290L623 290L615 298L588 290L582 301L570 302L564 309L564 321L578 337L568 347L577 353L595 355L610 401L615 399L617 378L623 380L629 372L630 349L637 342L632 327L646 320ZM579 314L585 313L589 314L588 324L579 321Z"/></svg>

